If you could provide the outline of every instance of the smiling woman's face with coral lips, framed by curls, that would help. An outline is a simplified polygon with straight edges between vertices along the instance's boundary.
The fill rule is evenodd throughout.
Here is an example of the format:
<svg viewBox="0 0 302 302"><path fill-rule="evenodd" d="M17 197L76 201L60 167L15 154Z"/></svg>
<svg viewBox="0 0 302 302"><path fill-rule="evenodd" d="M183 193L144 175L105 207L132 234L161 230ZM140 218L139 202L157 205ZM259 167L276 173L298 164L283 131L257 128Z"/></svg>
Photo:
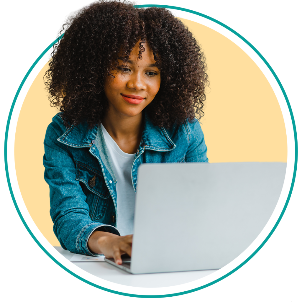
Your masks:
<svg viewBox="0 0 302 302"><path fill-rule="evenodd" d="M118 60L117 73L104 83L109 111L127 117L137 116L149 105L160 87L160 70L155 66L153 52L148 43L143 43L145 51L138 59L139 42L130 54L127 66Z"/></svg>

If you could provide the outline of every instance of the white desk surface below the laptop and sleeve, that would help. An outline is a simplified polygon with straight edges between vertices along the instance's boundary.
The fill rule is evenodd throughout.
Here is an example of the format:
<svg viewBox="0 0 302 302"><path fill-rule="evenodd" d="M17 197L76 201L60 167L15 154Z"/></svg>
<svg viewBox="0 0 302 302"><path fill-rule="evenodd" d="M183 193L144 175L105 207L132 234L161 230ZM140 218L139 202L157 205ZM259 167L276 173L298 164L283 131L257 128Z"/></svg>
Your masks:
<svg viewBox="0 0 302 302"><path fill-rule="evenodd" d="M54 248L67 260L70 260L74 255L74 253L64 250L61 246L54 246ZM103 280L124 286L132 286L139 288L161 288L169 286L178 286L199 280L217 271L180 271L172 273L133 275L121 269L115 268L113 265L107 262L72 263L83 271L86 271L89 274L94 275Z"/></svg>

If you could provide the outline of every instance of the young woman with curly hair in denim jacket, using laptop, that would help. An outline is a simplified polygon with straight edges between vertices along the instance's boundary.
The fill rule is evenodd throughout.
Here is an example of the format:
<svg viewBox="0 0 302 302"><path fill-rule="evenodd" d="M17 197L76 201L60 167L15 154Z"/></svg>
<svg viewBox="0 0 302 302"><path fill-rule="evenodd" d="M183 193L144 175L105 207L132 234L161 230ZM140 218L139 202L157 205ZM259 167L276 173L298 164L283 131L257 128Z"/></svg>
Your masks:
<svg viewBox="0 0 302 302"><path fill-rule="evenodd" d="M204 55L164 8L103 1L63 30L47 71L61 111L44 141L53 230L63 248L121 264L131 256L139 165L208 161L195 118Z"/></svg>

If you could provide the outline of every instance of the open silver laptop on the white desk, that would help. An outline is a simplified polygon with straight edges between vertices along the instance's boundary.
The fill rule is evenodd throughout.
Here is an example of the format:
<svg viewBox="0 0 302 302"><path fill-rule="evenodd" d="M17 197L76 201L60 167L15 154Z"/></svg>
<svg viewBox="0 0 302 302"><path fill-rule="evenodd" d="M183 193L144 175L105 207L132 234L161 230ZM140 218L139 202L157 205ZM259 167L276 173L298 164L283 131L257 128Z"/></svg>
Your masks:
<svg viewBox="0 0 302 302"><path fill-rule="evenodd" d="M259 236L279 201L282 162L159 163L138 169L132 274L220 269Z"/></svg>

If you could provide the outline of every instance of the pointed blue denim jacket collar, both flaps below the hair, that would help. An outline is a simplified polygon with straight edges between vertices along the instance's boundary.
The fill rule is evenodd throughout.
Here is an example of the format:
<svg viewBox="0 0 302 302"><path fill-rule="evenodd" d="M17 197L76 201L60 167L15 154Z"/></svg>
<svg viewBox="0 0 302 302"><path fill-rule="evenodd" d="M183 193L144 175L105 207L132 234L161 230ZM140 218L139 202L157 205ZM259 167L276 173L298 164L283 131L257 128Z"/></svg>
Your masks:
<svg viewBox="0 0 302 302"><path fill-rule="evenodd" d="M146 110L143 111L144 130L141 146L145 149L156 151L170 151L175 148L175 144L167 134L165 128L154 126L149 119ZM74 148L91 147L98 133L98 125L93 129L88 128L87 122L77 126L72 124L57 140L67 146Z"/></svg>

